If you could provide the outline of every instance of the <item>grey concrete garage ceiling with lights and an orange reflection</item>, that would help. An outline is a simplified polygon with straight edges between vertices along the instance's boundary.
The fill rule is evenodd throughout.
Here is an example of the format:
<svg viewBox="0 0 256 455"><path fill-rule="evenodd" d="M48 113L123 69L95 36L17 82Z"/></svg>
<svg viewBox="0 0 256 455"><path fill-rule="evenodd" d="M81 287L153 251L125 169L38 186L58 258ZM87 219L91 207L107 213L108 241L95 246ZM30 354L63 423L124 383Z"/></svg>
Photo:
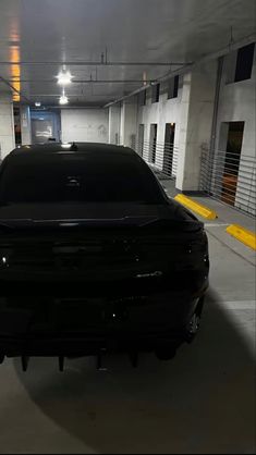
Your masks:
<svg viewBox="0 0 256 455"><path fill-rule="evenodd" d="M65 63L70 106L102 106L227 47L231 27L255 32L255 0L0 0L0 91L59 106Z"/></svg>

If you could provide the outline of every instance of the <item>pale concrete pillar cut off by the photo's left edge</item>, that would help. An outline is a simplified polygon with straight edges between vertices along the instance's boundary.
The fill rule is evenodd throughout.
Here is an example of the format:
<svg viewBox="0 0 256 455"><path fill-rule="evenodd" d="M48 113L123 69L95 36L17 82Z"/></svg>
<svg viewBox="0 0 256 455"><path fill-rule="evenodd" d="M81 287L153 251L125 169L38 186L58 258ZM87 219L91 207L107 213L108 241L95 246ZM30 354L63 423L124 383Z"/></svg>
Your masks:
<svg viewBox="0 0 256 455"><path fill-rule="evenodd" d="M0 94L0 159L15 148L12 94Z"/></svg>

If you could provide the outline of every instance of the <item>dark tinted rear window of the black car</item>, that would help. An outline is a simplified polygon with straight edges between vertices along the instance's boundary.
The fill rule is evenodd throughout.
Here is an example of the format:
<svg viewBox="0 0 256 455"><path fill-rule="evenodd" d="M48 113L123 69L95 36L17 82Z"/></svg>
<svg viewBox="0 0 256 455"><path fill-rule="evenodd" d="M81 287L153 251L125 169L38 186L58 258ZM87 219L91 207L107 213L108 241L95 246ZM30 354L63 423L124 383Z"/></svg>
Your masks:
<svg viewBox="0 0 256 455"><path fill-rule="evenodd" d="M0 200L164 204L151 171L137 157L93 153L16 155L3 167Z"/></svg>

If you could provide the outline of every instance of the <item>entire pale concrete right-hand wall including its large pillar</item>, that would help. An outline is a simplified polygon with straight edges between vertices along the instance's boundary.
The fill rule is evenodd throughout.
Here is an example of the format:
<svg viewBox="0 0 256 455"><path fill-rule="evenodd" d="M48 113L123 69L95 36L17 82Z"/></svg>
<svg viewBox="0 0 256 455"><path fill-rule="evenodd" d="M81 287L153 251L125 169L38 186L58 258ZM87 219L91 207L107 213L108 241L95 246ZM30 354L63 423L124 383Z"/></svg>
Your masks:
<svg viewBox="0 0 256 455"><path fill-rule="evenodd" d="M220 147L219 131L222 122L244 121L241 160L253 160L256 153L256 56L254 57L252 77L247 81L230 83L234 76L234 54L228 54L224 58L217 115L216 148ZM164 87L161 84L159 102L151 103L150 90L147 90L146 106L138 106L137 135L138 125L144 124L144 140L146 144L144 158L146 160L149 151L150 124L157 123L158 125L156 161L160 169L163 156L162 145L164 143L166 123L175 123L174 158L178 161L176 187L182 190L198 189L202 151L207 152L209 150L211 138L217 60L211 60L199 69L193 69L191 74L187 73L180 77L178 98L168 99L167 86ZM255 167L252 167L249 175L247 171L241 161L235 205L239 208L245 208L240 194L241 192L244 193L242 185L248 185L247 194L245 192L245 202L246 205L249 202L251 211L255 212Z"/></svg>

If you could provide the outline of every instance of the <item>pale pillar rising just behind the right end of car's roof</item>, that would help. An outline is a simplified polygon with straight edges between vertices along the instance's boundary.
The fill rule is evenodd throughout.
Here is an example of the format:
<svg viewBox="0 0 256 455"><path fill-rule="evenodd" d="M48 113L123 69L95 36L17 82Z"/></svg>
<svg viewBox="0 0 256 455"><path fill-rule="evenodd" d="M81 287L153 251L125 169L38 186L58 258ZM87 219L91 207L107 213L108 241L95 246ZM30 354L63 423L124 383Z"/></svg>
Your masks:
<svg viewBox="0 0 256 455"><path fill-rule="evenodd" d="M127 99L121 106L120 144L134 148L137 131L137 102L136 99Z"/></svg>

